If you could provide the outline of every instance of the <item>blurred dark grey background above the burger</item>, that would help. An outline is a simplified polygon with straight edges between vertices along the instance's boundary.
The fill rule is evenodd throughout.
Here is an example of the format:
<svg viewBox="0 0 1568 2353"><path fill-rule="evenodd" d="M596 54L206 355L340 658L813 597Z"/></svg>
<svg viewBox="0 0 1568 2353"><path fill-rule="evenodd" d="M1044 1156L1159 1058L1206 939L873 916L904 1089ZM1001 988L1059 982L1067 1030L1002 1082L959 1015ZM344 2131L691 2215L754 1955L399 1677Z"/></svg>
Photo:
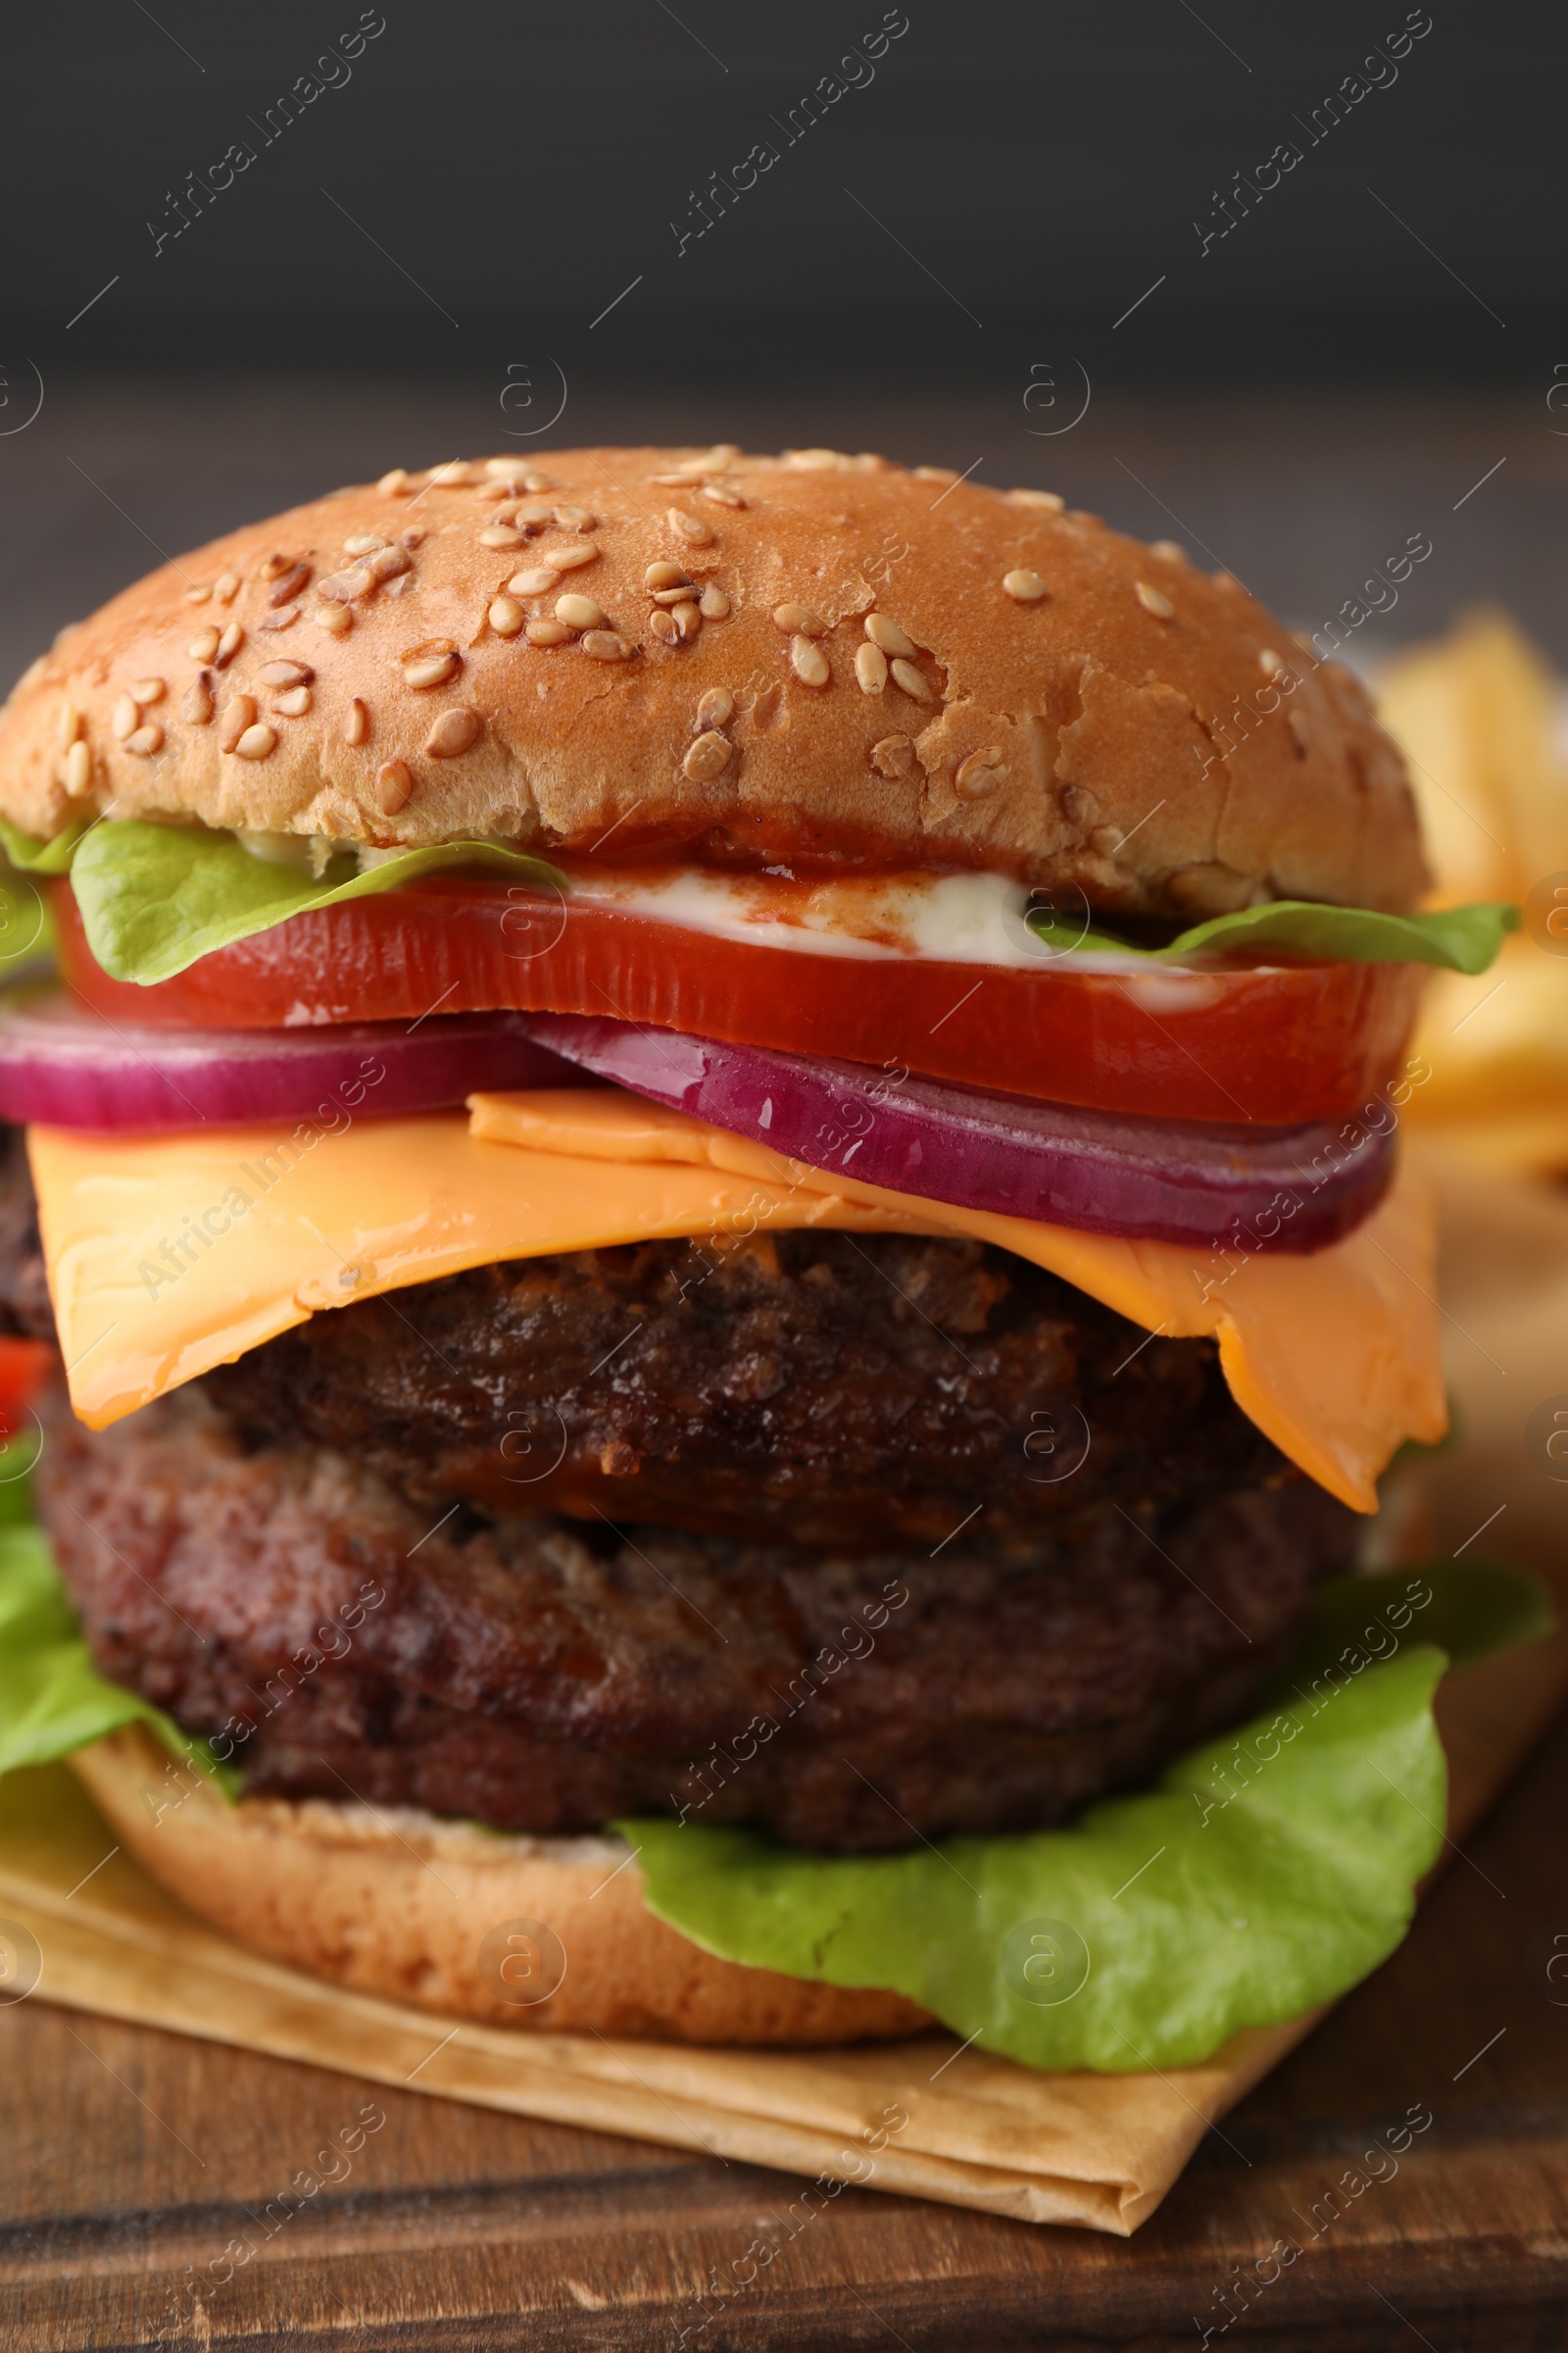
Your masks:
<svg viewBox="0 0 1568 2353"><path fill-rule="evenodd" d="M599 438L973 468L1354 600L1359 664L1479 600L1568 661L1542 9L87 0L5 47L5 680L256 513Z"/></svg>

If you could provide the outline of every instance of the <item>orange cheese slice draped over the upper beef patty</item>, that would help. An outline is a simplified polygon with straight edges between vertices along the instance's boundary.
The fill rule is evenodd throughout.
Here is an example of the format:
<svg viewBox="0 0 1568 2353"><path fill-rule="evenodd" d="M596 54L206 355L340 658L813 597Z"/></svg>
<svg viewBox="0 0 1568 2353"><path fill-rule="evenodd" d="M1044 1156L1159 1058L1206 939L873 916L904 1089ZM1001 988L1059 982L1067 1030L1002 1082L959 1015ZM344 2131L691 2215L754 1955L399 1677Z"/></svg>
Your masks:
<svg viewBox="0 0 1568 2353"><path fill-rule="evenodd" d="M952 1209L611 1089L287 1134L33 1127L28 1155L71 1402L92 1428L376 1292L498 1259L790 1226L976 1235L1150 1332L1213 1334L1241 1409L1356 1511L1375 1511L1403 1438L1446 1428L1434 1209L1408 1167L1356 1233L1300 1259Z"/></svg>

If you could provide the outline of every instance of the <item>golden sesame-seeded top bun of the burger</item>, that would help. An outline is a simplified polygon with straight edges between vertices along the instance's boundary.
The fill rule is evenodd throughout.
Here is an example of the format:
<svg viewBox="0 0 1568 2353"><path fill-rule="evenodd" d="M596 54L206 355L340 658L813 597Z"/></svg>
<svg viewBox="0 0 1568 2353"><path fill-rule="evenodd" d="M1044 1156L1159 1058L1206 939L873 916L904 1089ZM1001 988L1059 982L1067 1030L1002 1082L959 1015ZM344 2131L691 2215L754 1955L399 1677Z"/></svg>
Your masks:
<svg viewBox="0 0 1568 2353"><path fill-rule="evenodd" d="M550 574L564 555L588 560ZM604 626L531 642L559 595ZM1361 687L1234 579L1044 492L827 449L400 471L230 532L63 631L0 713L12 824L110 807L985 866L1161 915L1422 887Z"/></svg>

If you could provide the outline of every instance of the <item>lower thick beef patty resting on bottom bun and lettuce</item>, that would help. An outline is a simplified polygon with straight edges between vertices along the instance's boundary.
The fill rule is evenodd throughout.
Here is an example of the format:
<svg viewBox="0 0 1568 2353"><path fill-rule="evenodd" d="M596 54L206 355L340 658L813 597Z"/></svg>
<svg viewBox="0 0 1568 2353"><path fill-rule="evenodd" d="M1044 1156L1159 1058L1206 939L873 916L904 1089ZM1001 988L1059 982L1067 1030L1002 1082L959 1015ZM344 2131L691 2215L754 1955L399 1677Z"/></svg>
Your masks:
<svg viewBox="0 0 1568 2353"><path fill-rule="evenodd" d="M200 1388L99 1435L45 1400L40 1508L101 1671L252 1791L512 1831L623 1812L818 1849L1027 1828L1232 1722L1352 1513L1298 1473L936 1555L433 1522Z"/></svg>

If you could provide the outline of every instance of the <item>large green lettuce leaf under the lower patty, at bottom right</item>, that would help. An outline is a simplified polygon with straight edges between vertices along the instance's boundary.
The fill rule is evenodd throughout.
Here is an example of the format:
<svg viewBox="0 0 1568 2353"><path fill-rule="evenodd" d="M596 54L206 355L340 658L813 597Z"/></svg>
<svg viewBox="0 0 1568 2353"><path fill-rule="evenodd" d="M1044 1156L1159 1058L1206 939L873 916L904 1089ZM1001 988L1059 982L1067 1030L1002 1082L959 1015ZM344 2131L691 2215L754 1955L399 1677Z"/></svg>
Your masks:
<svg viewBox="0 0 1568 2353"><path fill-rule="evenodd" d="M1427 1626L1476 1657L1547 1617L1533 1579L1479 1565L1340 1579L1269 1713L1060 1831L813 1857L618 1828L649 1911L724 1960L891 1986L1034 2068L1187 2066L1394 1951L1443 1842L1448 1661Z"/></svg>

